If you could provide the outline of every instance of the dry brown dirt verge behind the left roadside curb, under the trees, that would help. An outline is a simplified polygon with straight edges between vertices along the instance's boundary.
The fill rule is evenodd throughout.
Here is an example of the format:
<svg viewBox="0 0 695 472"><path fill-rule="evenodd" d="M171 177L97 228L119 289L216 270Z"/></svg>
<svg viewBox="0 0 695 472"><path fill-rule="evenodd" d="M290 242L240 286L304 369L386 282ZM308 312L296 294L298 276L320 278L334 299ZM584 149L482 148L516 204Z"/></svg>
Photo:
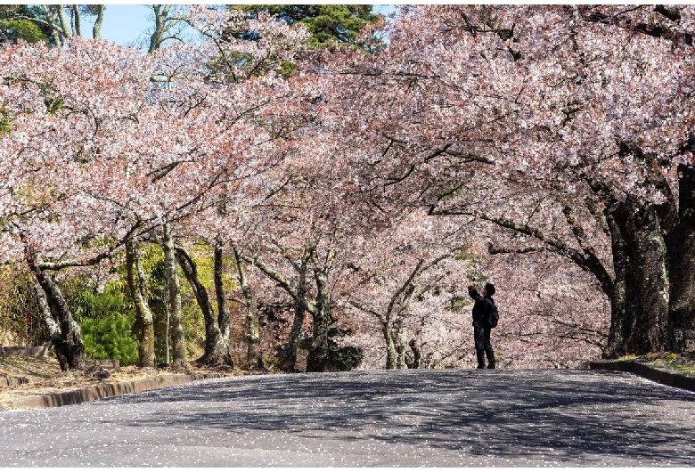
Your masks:
<svg viewBox="0 0 695 472"><path fill-rule="evenodd" d="M10 357L0 356L0 378L27 378L28 384L0 387L0 411L12 409L12 401L24 396L47 395L68 392L82 387L125 382L138 378L156 377L173 373L207 374L226 376L244 375L242 370L231 367L210 368L192 365L187 370L140 368L135 366L102 368L89 364L85 370L62 372L54 357Z"/></svg>

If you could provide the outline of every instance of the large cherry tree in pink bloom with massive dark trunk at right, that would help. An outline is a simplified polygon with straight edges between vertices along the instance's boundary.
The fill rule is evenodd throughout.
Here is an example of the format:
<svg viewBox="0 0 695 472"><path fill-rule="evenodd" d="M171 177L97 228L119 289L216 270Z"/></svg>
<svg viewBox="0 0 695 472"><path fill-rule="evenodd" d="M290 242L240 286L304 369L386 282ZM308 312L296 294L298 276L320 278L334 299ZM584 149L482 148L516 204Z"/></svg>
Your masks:
<svg viewBox="0 0 695 472"><path fill-rule="evenodd" d="M592 273L611 302L605 355L680 351L693 318L690 30L688 8L405 8L386 51L315 69L345 80L329 116L372 150L356 159L379 175L374 191L494 222L516 235L497 251L550 251Z"/></svg>

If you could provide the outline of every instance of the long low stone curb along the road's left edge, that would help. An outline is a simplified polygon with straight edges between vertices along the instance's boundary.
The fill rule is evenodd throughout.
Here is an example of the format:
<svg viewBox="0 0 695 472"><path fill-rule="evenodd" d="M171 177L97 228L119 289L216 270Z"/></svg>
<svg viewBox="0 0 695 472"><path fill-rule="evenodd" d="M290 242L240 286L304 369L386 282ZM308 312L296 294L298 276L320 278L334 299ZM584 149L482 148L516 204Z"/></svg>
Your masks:
<svg viewBox="0 0 695 472"><path fill-rule="evenodd" d="M127 382L103 384L85 387L70 392L59 392L50 395L29 396L12 402L18 409L50 408L54 406L74 405L83 402L94 402L110 396L137 394L156 390L158 388L175 387L206 378L223 378L223 374L171 374L157 377L141 378Z"/></svg>

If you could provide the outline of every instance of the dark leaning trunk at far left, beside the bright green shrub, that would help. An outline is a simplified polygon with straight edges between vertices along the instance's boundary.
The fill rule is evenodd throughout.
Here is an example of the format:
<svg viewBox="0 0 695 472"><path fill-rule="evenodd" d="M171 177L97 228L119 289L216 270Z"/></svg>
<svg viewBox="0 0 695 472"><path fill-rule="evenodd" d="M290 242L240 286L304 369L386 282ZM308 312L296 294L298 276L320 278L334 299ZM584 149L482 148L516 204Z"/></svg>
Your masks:
<svg viewBox="0 0 695 472"><path fill-rule="evenodd" d="M85 368L85 345L77 321L72 317L70 307L62 296L61 289L53 282L51 276L44 273L38 266L33 255L27 256L29 270L34 274L37 283L44 291L45 303L48 305L53 320L60 327L61 341L54 340L58 345L56 355L61 363L61 370L80 370ZM40 303L40 297L39 297Z"/></svg>

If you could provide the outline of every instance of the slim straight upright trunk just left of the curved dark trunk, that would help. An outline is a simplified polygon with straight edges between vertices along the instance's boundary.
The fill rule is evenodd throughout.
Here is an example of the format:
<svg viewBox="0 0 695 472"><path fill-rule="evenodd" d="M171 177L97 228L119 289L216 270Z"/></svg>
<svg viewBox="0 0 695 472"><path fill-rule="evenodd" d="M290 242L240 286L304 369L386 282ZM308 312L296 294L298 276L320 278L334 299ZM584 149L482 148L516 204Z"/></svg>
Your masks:
<svg viewBox="0 0 695 472"><path fill-rule="evenodd" d="M186 351L184 320L181 312L181 284L178 280L174 239L171 235L171 226L168 223L164 224L164 238L161 241L161 248L164 251L164 265L167 270L168 307L173 324L171 344L174 348L174 359L172 364L175 367L184 367L186 365Z"/></svg>

